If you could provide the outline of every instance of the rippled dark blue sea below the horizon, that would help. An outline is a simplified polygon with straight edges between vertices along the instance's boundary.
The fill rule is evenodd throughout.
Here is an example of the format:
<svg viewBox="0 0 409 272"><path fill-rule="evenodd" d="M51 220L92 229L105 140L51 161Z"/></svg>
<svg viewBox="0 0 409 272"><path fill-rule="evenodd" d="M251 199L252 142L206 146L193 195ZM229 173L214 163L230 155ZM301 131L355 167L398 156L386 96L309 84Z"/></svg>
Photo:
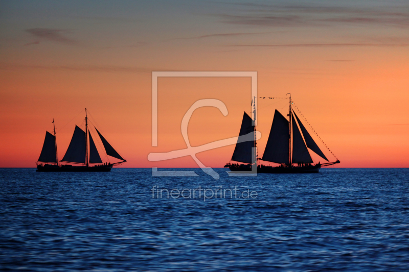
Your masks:
<svg viewBox="0 0 409 272"><path fill-rule="evenodd" d="M0 268L409 271L409 169L216 170L219 180L200 169L152 177L140 168L2 168Z"/></svg>

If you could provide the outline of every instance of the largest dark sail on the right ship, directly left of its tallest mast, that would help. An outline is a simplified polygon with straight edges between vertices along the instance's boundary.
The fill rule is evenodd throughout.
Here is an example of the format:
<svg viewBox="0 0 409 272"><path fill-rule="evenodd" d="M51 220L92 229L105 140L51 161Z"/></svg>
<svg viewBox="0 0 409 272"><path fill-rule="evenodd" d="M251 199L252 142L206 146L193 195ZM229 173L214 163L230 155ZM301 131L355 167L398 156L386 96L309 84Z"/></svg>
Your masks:
<svg viewBox="0 0 409 272"><path fill-rule="evenodd" d="M289 163L288 139L288 120L276 110L262 160L276 163Z"/></svg>

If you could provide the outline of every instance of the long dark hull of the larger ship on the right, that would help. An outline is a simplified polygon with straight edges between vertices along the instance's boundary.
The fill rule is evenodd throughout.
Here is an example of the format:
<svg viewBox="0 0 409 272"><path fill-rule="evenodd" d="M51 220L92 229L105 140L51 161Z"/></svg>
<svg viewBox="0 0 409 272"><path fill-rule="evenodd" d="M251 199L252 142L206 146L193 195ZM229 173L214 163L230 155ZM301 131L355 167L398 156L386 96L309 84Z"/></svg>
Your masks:
<svg viewBox="0 0 409 272"><path fill-rule="evenodd" d="M308 165L308 166L292 166L292 167L272 167L272 166L257 166L257 173L265 174L297 174L297 173L319 173L321 165ZM249 165L235 165L230 166L231 171L250 171Z"/></svg>

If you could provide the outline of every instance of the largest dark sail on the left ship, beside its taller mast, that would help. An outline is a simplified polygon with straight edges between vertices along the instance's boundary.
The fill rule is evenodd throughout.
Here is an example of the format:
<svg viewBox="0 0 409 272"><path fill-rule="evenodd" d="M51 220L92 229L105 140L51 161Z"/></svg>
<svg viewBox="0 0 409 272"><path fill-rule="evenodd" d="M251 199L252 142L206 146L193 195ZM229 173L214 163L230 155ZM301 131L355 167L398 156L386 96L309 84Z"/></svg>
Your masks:
<svg viewBox="0 0 409 272"><path fill-rule="evenodd" d="M85 163L85 132L75 126L73 138L61 161Z"/></svg>

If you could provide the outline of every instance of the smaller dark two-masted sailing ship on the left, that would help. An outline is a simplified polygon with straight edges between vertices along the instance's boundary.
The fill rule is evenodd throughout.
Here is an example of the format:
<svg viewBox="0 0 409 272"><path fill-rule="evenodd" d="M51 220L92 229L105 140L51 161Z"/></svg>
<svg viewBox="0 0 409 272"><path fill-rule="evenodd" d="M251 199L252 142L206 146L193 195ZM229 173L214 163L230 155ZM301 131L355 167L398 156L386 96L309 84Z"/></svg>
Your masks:
<svg viewBox="0 0 409 272"><path fill-rule="evenodd" d="M112 145L109 144L109 142L102 136L97 128L94 127L101 139L106 155L122 160L121 162L116 163L102 162L97 146L95 145L93 137L88 129L86 109L85 131L80 129L77 125L75 126L70 145L68 146L62 160L58 161L54 119L53 124L54 135L48 131L46 132L46 138L44 139L44 144L42 145L41 154L36 163L38 172L109 172L113 165L126 162L126 160L119 155L115 149L113 149ZM60 164L59 162L75 163L80 165L74 166L71 164Z"/></svg>

